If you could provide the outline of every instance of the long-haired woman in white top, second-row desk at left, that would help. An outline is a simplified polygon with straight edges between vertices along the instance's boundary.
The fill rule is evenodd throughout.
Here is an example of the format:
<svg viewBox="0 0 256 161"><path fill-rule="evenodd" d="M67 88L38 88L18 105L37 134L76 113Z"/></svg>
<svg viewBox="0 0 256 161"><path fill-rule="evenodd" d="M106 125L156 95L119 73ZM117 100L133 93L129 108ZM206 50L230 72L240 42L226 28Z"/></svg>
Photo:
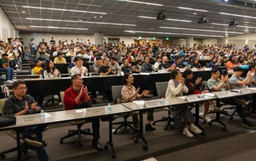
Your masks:
<svg viewBox="0 0 256 161"><path fill-rule="evenodd" d="M46 61L44 78L61 78L60 73L55 67L53 61Z"/></svg>

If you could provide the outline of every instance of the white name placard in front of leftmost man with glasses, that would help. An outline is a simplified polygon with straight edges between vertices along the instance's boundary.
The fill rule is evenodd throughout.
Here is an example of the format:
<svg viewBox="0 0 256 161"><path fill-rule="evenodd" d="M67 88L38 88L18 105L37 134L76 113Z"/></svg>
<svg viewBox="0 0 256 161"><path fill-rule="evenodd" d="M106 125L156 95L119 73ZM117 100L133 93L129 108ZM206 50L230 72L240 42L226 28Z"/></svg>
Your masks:
<svg viewBox="0 0 256 161"><path fill-rule="evenodd" d="M41 114L16 116L16 125L41 123Z"/></svg>

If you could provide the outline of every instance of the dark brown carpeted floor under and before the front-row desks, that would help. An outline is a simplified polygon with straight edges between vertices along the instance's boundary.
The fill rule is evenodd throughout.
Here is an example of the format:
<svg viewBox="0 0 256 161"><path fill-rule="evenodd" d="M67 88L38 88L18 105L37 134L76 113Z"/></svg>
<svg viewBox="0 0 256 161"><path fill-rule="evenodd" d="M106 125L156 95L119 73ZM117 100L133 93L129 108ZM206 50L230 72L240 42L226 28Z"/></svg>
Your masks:
<svg viewBox="0 0 256 161"><path fill-rule="evenodd" d="M154 113L155 119L166 115L166 111ZM211 116L214 118L215 115ZM248 119L256 124L255 119ZM114 122L121 120L122 118L118 118ZM146 121L146 114L144 114L144 120ZM166 122L157 123L155 131L144 133L148 142L148 151L142 149L141 140L139 143L133 142L132 130L113 134L113 143L117 151L116 159L111 158L110 149L103 152L93 149L91 147L92 136L82 136L82 147L78 146L76 136L68 138L64 140L63 144L60 144L60 137L66 135L69 129L76 128L68 123L50 125L50 129L44 133L44 139L48 142L46 152L50 161L140 161L150 157L154 157L157 161L255 161L256 133L248 133L246 128L240 124L241 120L238 116L235 116L234 120L223 116L221 120L227 124L227 131L222 131L222 126L218 123L209 126L200 120L206 134L204 136L194 134L193 138L182 134L182 129L176 128L174 125L165 131ZM91 123L83 125L83 127L91 128ZM101 122L100 132L100 142L101 145L104 145L108 141L108 122ZM10 138L6 132L0 132L0 152L15 145L15 140ZM15 156L16 152L9 153L5 161L13 161ZM37 161L36 152L33 151L29 151L22 157L24 161Z"/></svg>

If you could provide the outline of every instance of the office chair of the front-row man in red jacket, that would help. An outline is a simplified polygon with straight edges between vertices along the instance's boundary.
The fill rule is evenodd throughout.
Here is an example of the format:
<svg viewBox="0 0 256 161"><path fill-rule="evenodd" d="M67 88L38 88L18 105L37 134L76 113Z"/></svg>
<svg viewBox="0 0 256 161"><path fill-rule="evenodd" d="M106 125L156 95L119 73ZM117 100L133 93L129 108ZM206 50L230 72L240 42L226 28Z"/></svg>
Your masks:
<svg viewBox="0 0 256 161"><path fill-rule="evenodd" d="M63 109L65 110L65 104L64 104L64 92L60 92L60 97L61 97L61 101L62 101L62 105L63 105ZM86 134L86 135L92 135L90 128L86 128L86 129L81 129L83 124L86 123L90 123L91 121L89 120L81 120L81 121L71 121L69 122L71 125L76 125L77 126L77 130L69 130L68 131L68 135L64 136L61 138L60 143L63 143L63 140L66 138L69 138L71 136L74 135L78 135L78 145L82 146L81 143L81 134Z"/></svg>

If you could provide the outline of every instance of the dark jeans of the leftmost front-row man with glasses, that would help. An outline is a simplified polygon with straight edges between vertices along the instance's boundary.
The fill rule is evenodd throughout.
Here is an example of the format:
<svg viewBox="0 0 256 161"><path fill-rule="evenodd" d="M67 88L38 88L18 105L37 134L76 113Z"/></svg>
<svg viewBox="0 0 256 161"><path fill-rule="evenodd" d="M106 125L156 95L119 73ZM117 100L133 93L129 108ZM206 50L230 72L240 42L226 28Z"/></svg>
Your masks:
<svg viewBox="0 0 256 161"><path fill-rule="evenodd" d="M30 134L37 134L37 140L43 143L43 134L42 131L46 128L47 125L42 126L34 126L34 127L27 127L20 131L20 134L30 136ZM40 147L31 147L31 149L37 152L37 158L39 161L48 161L49 157L46 154L46 150L44 144Z"/></svg>

